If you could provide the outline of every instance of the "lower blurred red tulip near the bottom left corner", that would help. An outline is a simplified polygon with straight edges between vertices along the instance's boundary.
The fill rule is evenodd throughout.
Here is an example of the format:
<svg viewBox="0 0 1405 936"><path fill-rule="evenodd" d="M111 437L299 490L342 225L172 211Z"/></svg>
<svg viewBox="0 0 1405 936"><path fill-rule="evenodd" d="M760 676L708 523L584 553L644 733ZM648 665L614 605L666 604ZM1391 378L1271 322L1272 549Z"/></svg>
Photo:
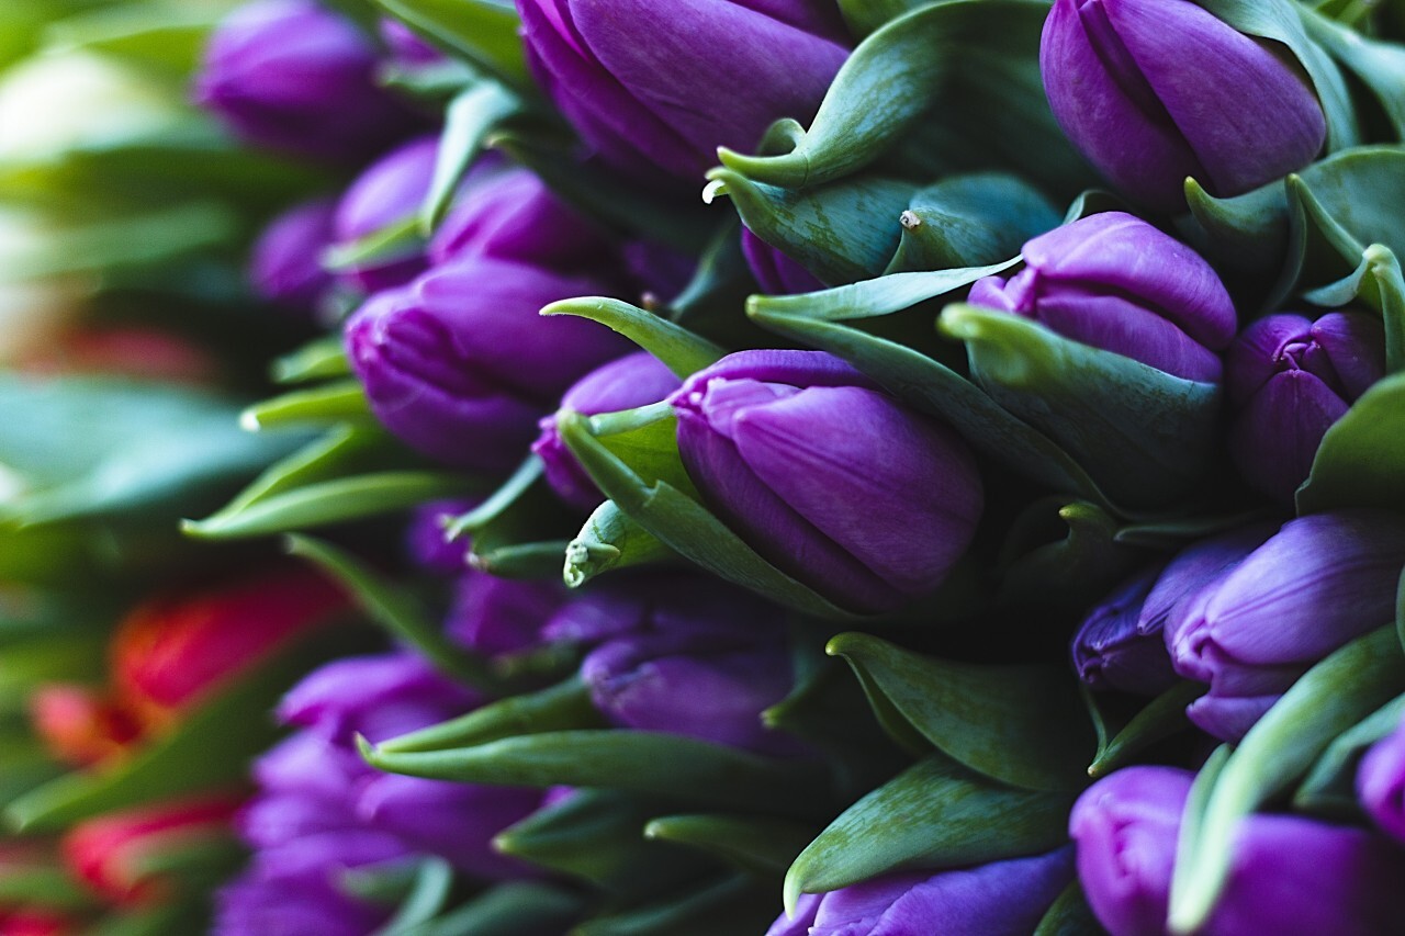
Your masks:
<svg viewBox="0 0 1405 936"><path fill-rule="evenodd" d="M87 819L65 836L63 856L83 881L111 901L160 899L169 884L152 876L152 859L200 840L229 838L239 801L235 795L205 795Z"/></svg>

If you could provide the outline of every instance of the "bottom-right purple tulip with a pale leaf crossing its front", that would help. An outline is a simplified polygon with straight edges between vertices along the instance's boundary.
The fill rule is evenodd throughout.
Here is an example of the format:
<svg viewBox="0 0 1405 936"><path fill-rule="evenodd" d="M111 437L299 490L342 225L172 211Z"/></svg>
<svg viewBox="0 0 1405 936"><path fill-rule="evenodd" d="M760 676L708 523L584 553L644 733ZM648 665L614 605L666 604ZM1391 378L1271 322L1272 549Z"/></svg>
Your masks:
<svg viewBox="0 0 1405 936"><path fill-rule="evenodd" d="M1127 767L1089 787L1069 818L1087 902L1113 936L1162 936L1193 774ZM1395 933L1405 852L1361 829L1288 815L1243 818L1215 936Z"/></svg>

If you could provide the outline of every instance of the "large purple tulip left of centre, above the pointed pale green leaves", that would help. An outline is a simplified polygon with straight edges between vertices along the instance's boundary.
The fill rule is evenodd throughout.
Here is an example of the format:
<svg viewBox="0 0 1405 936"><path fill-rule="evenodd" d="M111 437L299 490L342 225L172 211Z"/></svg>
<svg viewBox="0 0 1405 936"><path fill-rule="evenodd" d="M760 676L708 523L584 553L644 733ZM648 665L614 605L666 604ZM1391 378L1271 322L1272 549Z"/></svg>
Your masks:
<svg viewBox="0 0 1405 936"><path fill-rule="evenodd" d="M377 419L409 446L507 471L561 394L628 347L593 322L538 315L600 292L593 280L466 257L362 305L346 325L347 351Z"/></svg>

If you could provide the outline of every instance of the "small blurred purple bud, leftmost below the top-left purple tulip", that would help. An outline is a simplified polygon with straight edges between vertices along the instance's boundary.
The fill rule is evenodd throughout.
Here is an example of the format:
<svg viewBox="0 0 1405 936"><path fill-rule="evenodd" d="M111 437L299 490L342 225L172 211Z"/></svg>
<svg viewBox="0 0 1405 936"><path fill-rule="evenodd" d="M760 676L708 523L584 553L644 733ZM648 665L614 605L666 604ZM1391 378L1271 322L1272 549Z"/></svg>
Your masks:
<svg viewBox="0 0 1405 936"><path fill-rule="evenodd" d="M270 302L313 312L332 288L322 253L332 243L336 201L318 198L295 205L259 235L249 261L254 292Z"/></svg>

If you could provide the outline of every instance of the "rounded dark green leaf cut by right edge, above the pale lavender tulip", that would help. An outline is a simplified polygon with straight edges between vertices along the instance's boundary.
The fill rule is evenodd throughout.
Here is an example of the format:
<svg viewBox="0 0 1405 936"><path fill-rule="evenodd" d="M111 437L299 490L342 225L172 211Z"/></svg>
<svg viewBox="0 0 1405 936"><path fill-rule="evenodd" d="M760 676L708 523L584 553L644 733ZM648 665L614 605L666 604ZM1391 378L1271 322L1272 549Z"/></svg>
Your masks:
<svg viewBox="0 0 1405 936"><path fill-rule="evenodd" d="M1405 374L1380 381L1326 430L1298 512L1342 507L1405 510Z"/></svg>

